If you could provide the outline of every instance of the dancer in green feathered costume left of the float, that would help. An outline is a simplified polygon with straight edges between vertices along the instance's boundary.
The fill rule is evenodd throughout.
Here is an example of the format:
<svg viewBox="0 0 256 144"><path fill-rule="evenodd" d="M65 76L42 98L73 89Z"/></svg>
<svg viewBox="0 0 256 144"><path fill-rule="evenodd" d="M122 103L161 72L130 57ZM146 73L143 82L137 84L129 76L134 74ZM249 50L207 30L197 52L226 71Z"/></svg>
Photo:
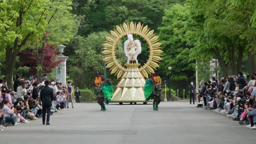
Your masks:
<svg viewBox="0 0 256 144"><path fill-rule="evenodd" d="M106 77L98 75L95 78L95 84L97 86L97 103L101 106L102 111L106 111L104 100L106 99L106 104L108 104L110 98L113 97L112 83Z"/></svg>

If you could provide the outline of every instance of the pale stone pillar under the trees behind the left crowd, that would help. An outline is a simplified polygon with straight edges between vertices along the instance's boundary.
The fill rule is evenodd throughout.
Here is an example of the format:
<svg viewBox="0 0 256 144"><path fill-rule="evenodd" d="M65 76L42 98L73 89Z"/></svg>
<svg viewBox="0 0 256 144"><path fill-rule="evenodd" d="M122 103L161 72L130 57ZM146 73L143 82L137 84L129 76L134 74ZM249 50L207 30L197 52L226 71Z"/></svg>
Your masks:
<svg viewBox="0 0 256 144"><path fill-rule="evenodd" d="M63 50L66 46L60 44L59 45L59 55L57 55L57 59L61 60L61 63L56 67L56 81L61 82L62 85L66 84L66 56L62 55Z"/></svg>

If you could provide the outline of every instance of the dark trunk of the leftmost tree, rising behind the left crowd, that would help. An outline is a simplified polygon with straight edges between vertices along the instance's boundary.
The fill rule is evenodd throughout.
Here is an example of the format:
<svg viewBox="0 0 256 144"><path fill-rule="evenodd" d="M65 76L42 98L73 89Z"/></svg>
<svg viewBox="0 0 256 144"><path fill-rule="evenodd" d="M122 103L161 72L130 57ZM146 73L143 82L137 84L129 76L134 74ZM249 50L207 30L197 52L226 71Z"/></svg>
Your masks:
<svg viewBox="0 0 256 144"><path fill-rule="evenodd" d="M13 75L15 66L16 53L11 50L10 45L7 45L5 56L5 79L7 80L8 88L13 91Z"/></svg>

